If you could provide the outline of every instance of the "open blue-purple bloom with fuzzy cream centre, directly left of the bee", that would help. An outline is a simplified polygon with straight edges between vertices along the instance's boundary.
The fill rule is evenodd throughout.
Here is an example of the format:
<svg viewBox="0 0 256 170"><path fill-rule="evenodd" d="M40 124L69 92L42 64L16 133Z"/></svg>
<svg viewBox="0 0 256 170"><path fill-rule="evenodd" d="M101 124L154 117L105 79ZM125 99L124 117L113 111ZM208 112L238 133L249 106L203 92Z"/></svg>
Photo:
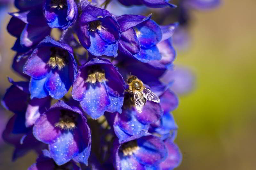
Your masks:
<svg viewBox="0 0 256 170"><path fill-rule="evenodd" d="M105 111L122 112L124 88L124 80L112 63L93 58L78 70L71 94L85 113L97 119Z"/></svg>

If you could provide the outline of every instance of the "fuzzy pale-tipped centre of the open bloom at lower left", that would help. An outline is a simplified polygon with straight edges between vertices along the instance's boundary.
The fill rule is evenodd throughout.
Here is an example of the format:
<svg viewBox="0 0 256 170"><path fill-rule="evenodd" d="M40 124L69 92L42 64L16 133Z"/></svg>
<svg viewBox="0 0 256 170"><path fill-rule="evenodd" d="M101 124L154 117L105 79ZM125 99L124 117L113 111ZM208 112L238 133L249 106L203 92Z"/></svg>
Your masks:
<svg viewBox="0 0 256 170"><path fill-rule="evenodd" d="M73 130L76 127L75 116L62 114L60 121L55 123L54 126L60 129Z"/></svg>

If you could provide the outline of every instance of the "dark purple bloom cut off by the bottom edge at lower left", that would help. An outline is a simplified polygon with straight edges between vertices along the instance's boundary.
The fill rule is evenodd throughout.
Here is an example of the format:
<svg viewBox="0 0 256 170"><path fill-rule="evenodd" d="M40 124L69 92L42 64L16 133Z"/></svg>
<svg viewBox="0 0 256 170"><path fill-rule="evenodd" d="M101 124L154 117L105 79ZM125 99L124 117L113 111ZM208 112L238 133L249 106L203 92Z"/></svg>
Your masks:
<svg viewBox="0 0 256 170"><path fill-rule="evenodd" d="M43 150L43 154L39 155L36 159L36 163L31 165L28 170L43 170L43 169L68 169L68 170L80 170L81 168L76 165L76 162L71 160L64 165L58 166L51 158L51 154L47 150Z"/></svg>

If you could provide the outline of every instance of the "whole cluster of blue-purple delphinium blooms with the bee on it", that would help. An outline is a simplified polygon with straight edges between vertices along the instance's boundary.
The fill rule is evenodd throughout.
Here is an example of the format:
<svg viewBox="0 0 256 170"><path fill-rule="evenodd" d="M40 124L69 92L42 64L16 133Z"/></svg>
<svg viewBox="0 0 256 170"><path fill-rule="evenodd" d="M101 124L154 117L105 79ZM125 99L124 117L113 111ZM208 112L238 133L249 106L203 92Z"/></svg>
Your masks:
<svg viewBox="0 0 256 170"><path fill-rule="evenodd" d="M119 2L176 7L166 0ZM179 24L158 25L151 14L116 16L105 9L109 3L15 0L19 11L7 26L17 38L12 68L27 81L8 78L2 104L15 115L3 138L15 146L13 159L38 153L30 170L180 165L171 114L179 101L172 80L161 81L173 68Z"/></svg>

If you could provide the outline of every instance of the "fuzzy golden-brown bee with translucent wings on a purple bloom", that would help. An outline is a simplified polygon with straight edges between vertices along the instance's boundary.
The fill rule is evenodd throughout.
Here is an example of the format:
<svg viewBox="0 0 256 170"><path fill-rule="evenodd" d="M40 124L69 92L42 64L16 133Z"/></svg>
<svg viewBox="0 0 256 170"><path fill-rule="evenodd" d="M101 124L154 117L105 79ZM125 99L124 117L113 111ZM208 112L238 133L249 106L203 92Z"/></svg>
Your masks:
<svg viewBox="0 0 256 170"><path fill-rule="evenodd" d="M134 102L136 110L139 113L142 112L146 100L160 103L160 99L157 95L146 88L143 82L136 76L127 78L126 84L129 85L129 89L125 90L125 92L129 92L133 95L132 102Z"/></svg>

